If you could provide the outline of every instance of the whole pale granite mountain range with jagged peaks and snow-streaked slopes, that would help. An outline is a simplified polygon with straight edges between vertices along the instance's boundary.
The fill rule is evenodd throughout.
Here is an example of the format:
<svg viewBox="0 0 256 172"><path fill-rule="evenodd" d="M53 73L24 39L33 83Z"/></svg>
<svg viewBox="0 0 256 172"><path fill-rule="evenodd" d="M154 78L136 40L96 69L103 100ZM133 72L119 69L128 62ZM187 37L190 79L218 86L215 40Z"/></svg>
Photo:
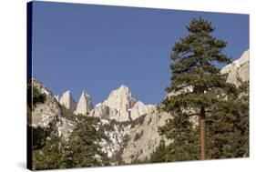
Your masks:
<svg viewBox="0 0 256 172"><path fill-rule="evenodd" d="M241 81L249 81L249 63L248 50L241 58L223 67L220 73L228 75L227 82L239 86ZM103 131L108 139L101 138L102 150L109 158L118 157L124 163L148 159L159 146L161 139L169 143L169 140L159 135L158 129L159 126L166 124L166 120L171 118L171 115L159 112L157 105L145 105L136 100L128 86L119 86L109 93L106 100L93 106L91 96L85 91L82 92L78 102L70 91L66 91L57 100L57 97L38 79L32 78L32 83L41 93L46 94L46 102L36 105L32 112L32 126L46 127L57 119L58 133L66 141L76 127L77 116L82 115L98 117L99 126L107 125L111 128ZM70 116L66 116L64 111ZM113 163L117 162L114 160Z"/></svg>

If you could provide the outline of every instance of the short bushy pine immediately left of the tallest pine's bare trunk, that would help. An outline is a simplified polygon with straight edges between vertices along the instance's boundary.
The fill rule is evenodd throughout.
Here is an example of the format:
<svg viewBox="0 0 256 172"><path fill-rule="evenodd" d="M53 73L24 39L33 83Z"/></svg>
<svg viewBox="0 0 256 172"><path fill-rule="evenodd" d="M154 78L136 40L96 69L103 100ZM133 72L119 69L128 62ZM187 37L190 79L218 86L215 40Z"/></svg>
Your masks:
<svg viewBox="0 0 256 172"><path fill-rule="evenodd" d="M168 120L168 125L159 127L160 135L171 140L166 148L166 161L199 159L198 127L187 116L176 116Z"/></svg>

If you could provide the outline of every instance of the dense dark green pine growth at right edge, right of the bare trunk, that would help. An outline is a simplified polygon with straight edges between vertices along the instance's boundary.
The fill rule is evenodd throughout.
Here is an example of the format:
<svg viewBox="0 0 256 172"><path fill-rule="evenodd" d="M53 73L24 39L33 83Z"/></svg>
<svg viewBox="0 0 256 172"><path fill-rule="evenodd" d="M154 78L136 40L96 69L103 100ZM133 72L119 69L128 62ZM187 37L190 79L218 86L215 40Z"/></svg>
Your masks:
<svg viewBox="0 0 256 172"><path fill-rule="evenodd" d="M237 91L206 121L211 158L249 157L249 83Z"/></svg>

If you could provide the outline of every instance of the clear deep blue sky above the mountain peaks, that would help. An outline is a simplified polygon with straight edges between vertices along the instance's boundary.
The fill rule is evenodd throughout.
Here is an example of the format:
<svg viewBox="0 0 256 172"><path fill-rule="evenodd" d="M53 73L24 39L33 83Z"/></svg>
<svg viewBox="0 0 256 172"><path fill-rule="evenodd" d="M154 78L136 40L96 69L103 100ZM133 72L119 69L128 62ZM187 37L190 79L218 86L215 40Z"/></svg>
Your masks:
<svg viewBox="0 0 256 172"><path fill-rule="evenodd" d="M169 86L171 46L203 17L236 59L249 48L249 15L34 2L33 75L55 95L82 90L93 102L127 85L137 99L159 103Z"/></svg>

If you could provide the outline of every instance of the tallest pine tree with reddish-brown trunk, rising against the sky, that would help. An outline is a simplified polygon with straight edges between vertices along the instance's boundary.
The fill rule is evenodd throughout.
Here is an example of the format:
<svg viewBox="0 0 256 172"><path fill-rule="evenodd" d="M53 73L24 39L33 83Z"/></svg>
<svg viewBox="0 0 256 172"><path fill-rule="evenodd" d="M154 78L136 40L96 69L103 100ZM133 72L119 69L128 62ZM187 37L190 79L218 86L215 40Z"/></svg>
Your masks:
<svg viewBox="0 0 256 172"><path fill-rule="evenodd" d="M172 76L167 92L173 96L167 96L160 108L185 121L191 116L199 118L200 159L205 159L205 118L222 101L211 92L221 89L228 94L234 91L234 86L226 83L226 76L220 75L219 66L229 64L230 58L222 53L227 43L211 35L215 30L211 23L202 18L193 19L187 29L189 35L175 43L170 56ZM186 123L181 124L186 128Z"/></svg>

